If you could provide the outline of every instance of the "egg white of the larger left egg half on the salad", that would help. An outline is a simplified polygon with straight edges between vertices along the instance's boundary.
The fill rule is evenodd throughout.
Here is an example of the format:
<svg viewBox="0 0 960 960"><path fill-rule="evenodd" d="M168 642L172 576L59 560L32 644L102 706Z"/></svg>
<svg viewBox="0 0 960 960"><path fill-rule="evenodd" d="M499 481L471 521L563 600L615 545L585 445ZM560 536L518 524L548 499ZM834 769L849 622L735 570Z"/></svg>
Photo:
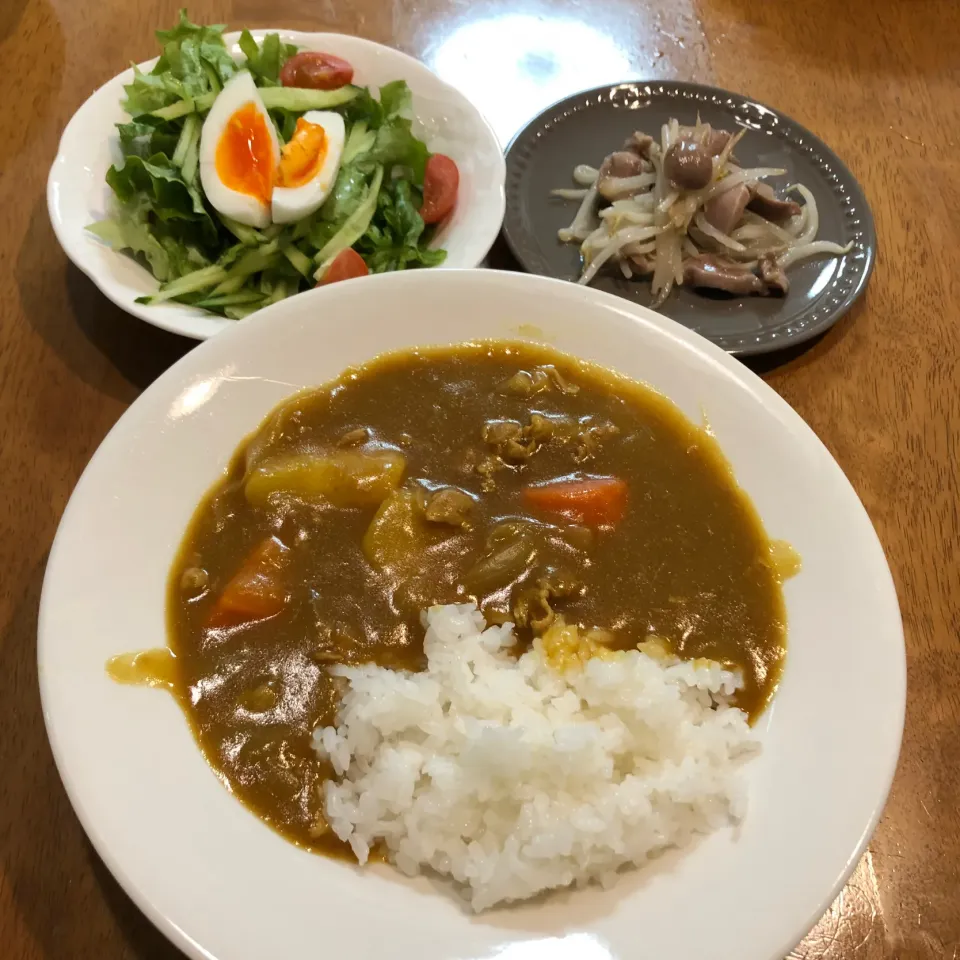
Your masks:
<svg viewBox="0 0 960 960"><path fill-rule="evenodd" d="M280 141L267 108L260 99L253 77L243 70L231 77L214 100L200 132L200 183L203 192L216 210L225 217L248 227L266 227L270 224L270 204L261 203L256 197L240 193L228 187L217 173L217 144L234 113L245 104L253 102L266 121L273 145L274 169L280 162ZM343 121L341 121L342 124Z"/></svg>

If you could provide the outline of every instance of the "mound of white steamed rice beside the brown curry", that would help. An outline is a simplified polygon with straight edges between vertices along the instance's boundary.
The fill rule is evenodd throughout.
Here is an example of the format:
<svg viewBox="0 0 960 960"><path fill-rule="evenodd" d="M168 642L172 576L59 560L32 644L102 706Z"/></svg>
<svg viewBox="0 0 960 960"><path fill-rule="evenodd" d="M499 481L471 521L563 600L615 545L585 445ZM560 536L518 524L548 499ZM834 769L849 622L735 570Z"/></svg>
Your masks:
<svg viewBox="0 0 960 960"><path fill-rule="evenodd" d="M473 605L424 615L428 668L335 667L349 681L314 745L326 816L365 863L452 878L475 910L597 880L744 813L758 747L740 676L631 651L561 674Z"/></svg>

